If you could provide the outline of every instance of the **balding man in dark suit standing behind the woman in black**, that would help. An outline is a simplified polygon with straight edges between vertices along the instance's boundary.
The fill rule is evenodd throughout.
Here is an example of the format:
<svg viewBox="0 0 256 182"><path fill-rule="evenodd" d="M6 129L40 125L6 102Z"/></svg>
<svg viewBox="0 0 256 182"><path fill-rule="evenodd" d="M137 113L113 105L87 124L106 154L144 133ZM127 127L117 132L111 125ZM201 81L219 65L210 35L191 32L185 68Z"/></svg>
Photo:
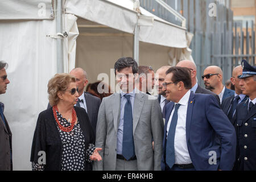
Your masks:
<svg viewBox="0 0 256 182"><path fill-rule="evenodd" d="M84 69L74 68L69 74L76 77L76 86L79 90L79 98L76 106L85 109L86 113L88 114L90 123L93 126L94 134L96 134L98 109L100 108L101 100L98 97L84 92L84 88L88 84L87 74ZM49 108L51 108L51 105L48 104L47 109Z"/></svg>

